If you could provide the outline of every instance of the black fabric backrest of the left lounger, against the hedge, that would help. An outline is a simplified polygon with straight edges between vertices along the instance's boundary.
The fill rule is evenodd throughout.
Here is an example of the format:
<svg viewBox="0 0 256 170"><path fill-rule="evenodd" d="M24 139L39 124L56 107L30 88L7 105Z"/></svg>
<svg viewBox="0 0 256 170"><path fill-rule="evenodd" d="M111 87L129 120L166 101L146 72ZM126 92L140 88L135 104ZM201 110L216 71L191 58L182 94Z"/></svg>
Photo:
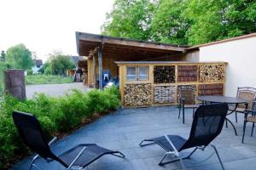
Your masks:
<svg viewBox="0 0 256 170"><path fill-rule="evenodd" d="M36 116L20 111L13 111L13 119L21 139L31 150L35 151L44 159L60 161L65 167L67 165L55 156L49 149L49 144L44 138L44 133Z"/></svg>

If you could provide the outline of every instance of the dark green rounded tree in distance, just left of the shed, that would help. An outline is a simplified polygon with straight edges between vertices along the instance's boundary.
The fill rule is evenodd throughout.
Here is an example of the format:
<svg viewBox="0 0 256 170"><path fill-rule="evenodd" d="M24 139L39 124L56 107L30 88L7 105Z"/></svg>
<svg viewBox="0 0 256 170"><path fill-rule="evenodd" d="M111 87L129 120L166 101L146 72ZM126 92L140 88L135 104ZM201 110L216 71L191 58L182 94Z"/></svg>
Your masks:
<svg viewBox="0 0 256 170"><path fill-rule="evenodd" d="M62 54L60 51L54 51L52 54L49 54L49 61L46 63L44 71L53 75L64 76L67 69L75 68L75 64L70 56Z"/></svg>

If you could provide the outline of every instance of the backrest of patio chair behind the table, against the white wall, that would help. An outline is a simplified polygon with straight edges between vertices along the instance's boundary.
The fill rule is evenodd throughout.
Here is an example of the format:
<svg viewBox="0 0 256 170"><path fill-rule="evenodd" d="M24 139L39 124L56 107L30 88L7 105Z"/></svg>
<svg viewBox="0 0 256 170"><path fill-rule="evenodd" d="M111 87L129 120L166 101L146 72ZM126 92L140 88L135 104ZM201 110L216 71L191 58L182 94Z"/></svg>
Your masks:
<svg viewBox="0 0 256 170"><path fill-rule="evenodd" d="M246 99L248 102L248 109L253 109L253 101L256 97L256 88L242 87L237 88L236 98ZM239 108L245 108L245 105L238 105Z"/></svg>

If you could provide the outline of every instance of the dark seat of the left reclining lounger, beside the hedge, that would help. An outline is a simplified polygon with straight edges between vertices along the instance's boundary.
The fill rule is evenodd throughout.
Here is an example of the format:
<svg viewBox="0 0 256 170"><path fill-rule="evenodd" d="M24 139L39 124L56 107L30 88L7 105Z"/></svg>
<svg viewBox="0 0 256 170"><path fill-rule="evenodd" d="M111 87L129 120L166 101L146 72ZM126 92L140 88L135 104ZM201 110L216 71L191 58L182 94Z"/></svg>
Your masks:
<svg viewBox="0 0 256 170"><path fill-rule="evenodd" d="M59 157L67 165L70 165L75 157L79 155L79 152L83 150L84 146L86 147L84 152L81 156L79 156L79 159L73 164L73 166L85 167L90 164L90 161L94 160L96 157L101 157L104 154L113 152L113 150L107 150L96 144L79 144L78 146L65 151Z"/></svg>

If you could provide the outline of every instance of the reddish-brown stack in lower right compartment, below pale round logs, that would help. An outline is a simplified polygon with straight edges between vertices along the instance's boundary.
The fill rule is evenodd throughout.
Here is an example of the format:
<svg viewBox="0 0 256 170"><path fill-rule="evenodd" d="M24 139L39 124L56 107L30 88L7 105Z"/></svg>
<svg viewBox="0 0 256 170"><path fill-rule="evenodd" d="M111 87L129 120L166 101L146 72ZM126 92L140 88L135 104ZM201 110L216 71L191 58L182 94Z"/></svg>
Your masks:
<svg viewBox="0 0 256 170"><path fill-rule="evenodd" d="M199 84L198 85L198 95L223 95L224 94L224 84Z"/></svg>

